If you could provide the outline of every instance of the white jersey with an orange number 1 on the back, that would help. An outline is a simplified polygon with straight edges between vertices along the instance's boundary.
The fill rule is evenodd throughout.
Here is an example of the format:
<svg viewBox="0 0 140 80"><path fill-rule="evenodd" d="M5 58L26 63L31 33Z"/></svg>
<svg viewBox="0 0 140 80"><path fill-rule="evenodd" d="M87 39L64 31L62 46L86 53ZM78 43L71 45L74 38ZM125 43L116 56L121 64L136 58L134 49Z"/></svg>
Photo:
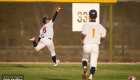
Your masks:
<svg viewBox="0 0 140 80"><path fill-rule="evenodd" d="M100 44L100 38L106 36L106 29L99 23L87 22L83 25L84 44Z"/></svg>

